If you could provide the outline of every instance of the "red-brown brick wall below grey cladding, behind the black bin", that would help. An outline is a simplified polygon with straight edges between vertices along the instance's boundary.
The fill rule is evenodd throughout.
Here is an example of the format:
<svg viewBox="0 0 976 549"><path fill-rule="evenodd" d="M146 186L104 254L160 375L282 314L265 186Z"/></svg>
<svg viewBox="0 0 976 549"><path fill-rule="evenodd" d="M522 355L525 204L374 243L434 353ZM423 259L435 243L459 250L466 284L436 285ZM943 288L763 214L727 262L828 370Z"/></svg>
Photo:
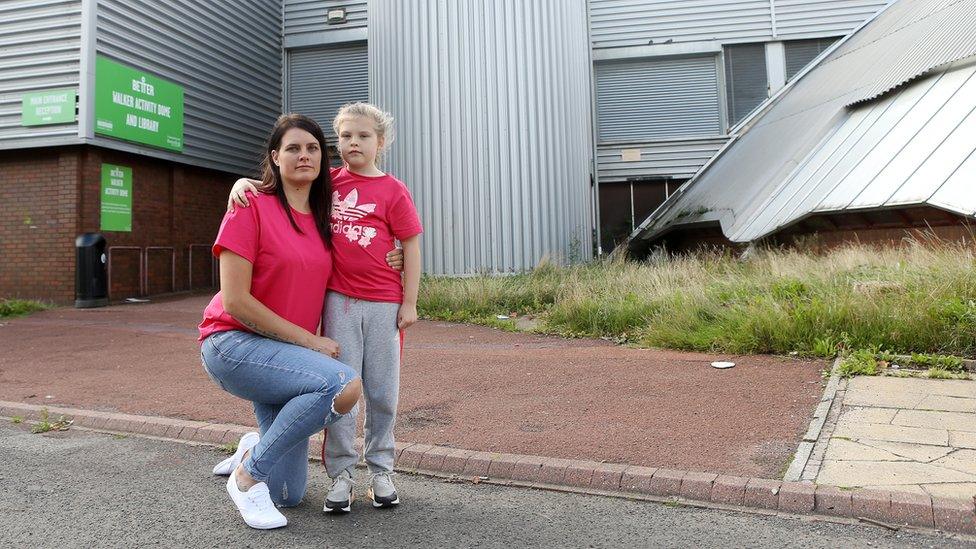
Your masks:
<svg viewBox="0 0 976 549"><path fill-rule="evenodd" d="M236 174L95 147L0 153L0 297L74 301L74 239L100 231L103 163L132 168L132 232L110 247L148 251L147 295L211 286L209 245ZM193 265L189 265L191 244ZM171 270L175 254L175 285ZM113 300L139 295L139 252L113 249Z"/></svg>

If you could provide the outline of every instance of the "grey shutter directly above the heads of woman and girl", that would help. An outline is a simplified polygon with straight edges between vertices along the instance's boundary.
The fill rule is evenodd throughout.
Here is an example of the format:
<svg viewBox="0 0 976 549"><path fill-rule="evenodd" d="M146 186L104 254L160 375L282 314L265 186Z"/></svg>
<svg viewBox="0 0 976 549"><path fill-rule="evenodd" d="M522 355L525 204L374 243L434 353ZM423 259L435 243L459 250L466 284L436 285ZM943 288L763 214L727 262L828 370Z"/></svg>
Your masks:
<svg viewBox="0 0 976 549"><path fill-rule="evenodd" d="M368 62L365 43L289 51L287 109L314 118L333 140L339 107L369 100Z"/></svg>

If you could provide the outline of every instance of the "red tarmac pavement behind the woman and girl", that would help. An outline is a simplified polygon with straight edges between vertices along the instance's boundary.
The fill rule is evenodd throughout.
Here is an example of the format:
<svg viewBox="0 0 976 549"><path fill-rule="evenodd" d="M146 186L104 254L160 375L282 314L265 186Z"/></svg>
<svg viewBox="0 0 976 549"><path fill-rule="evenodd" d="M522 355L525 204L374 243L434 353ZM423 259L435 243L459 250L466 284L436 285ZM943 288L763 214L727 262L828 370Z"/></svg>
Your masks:
<svg viewBox="0 0 976 549"><path fill-rule="evenodd" d="M0 400L253 425L200 366L209 298L0 321ZM397 439L778 478L825 366L421 322L407 332Z"/></svg>

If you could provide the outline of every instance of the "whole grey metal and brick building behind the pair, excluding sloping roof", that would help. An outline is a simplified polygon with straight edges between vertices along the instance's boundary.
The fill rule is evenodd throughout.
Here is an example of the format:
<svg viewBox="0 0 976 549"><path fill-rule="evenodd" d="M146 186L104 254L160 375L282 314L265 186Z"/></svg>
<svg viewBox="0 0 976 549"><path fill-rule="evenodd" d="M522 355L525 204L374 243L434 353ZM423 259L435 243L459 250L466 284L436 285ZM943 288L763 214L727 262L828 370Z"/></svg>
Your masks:
<svg viewBox="0 0 976 549"><path fill-rule="evenodd" d="M214 284L275 117L359 100L399 119L426 272L586 259L884 3L0 2L0 295L70 301L84 232L113 299Z"/></svg>

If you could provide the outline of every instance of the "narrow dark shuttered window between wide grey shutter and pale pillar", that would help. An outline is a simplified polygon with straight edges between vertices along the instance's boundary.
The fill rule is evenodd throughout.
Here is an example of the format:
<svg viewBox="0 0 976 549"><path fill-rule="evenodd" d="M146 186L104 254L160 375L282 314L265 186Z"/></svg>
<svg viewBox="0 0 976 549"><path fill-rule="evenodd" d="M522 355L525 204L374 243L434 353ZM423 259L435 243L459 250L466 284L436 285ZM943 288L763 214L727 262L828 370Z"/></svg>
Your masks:
<svg viewBox="0 0 976 549"><path fill-rule="evenodd" d="M725 86L729 125L752 112L768 97L766 48L763 44L725 47Z"/></svg>

